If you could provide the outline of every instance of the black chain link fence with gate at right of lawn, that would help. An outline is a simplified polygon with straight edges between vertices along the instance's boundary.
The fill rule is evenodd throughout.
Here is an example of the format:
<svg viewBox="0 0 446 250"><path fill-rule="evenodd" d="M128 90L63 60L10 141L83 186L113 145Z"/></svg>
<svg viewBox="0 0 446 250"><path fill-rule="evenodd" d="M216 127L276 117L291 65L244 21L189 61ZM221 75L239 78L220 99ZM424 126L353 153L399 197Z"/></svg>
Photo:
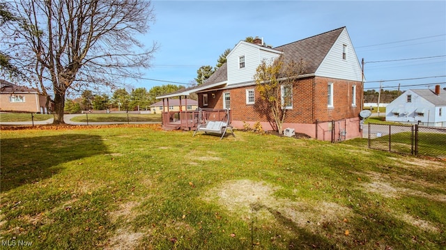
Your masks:
<svg viewBox="0 0 446 250"><path fill-rule="evenodd" d="M369 148L446 158L446 128L369 123Z"/></svg>

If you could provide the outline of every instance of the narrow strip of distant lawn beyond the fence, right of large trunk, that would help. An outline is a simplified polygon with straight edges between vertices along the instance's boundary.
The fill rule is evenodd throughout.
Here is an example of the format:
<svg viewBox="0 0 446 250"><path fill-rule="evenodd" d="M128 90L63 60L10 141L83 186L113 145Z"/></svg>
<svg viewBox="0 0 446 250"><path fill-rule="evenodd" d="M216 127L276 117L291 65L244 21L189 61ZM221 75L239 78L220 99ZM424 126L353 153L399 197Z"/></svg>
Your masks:
<svg viewBox="0 0 446 250"><path fill-rule="evenodd" d="M161 114L84 114L75 116L71 119L73 122L86 123L87 116L89 122L161 122Z"/></svg>

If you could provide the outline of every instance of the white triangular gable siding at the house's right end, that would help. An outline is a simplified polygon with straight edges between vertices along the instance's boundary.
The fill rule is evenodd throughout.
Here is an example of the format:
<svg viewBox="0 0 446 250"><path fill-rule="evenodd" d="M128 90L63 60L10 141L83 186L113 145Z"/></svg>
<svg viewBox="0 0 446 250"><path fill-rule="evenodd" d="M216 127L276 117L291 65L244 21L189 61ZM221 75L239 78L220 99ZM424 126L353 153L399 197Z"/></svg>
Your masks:
<svg viewBox="0 0 446 250"><path fill-rule="evenodd" d="M343 58L343 49L346 49L346 59ZM362 70L357 60L355 49L348 36L347 30L341 32L334 42L323 62L315 73L318 77L330 77L351 81L362 81Z"/></svg>

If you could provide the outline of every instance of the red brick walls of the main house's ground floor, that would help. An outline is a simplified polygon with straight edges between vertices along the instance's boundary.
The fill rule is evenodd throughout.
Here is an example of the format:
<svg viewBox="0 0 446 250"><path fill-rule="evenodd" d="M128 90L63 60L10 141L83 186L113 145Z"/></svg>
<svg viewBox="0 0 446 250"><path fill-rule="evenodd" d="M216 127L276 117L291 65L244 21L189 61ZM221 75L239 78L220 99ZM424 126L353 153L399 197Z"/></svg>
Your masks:
<svg viewBox="0 0 446 250"><path fill-rule="evenodd" d="M328 108L328 83L333 83L333 108ZM300 79L293 86L293 109L288 109L285 123L313 124L319 121L356 118L360 113L361 86L358 81L311 77ZM356 107L351 106L351 88L356 85ZM246 90L254 88L255 104L246 104ZM266 105L263 104L255 86L231 88L224 91L208 91L208 107L203 107L203 93L199 93L199 107L223 108L223 93L231 93L233 121L268 121ZM215 98L212 94L215 94Z"/></svg>

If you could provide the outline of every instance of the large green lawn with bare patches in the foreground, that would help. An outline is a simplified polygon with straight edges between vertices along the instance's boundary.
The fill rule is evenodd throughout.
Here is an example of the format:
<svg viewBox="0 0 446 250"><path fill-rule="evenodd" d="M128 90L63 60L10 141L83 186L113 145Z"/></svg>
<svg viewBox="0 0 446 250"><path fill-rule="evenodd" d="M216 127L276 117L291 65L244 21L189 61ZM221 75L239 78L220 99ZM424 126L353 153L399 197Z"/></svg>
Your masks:
<svg viewBox="0 0 446 250"><path fill-rule="evenodd" d="M446 247L446 163L362 140L0 133L1 240L26 249Z"/></svg>

